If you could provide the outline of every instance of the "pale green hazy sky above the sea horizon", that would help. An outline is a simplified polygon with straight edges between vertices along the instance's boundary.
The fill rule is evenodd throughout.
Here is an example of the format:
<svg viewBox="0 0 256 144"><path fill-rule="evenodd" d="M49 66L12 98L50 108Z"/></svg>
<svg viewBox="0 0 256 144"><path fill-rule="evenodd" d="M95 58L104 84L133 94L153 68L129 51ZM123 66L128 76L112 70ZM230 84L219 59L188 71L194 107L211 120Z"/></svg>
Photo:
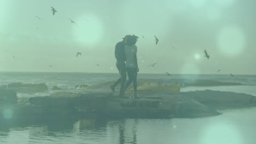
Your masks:
<svg viewBox="0 0 256 144"><path fill-rule="evenodd" d="M139 73L255 75L255 6L254 0L1 0L0 71L118 73L115 44L135 34Z"/></svg>

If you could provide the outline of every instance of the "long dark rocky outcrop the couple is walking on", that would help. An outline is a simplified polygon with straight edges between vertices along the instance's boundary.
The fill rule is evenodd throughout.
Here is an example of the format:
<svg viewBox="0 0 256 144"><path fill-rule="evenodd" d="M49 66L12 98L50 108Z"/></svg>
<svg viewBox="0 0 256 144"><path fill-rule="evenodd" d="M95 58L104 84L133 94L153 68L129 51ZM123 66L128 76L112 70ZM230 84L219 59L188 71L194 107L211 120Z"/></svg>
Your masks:
<svg viewBox="0 0 256 144"><path fill-rule="evenodd" d="M249 94L195 91L140 91L140 99L115 97L112 92L56 92L45 97L31 97L13 107L14 116L37 117L107 117L107 118L191 118L220 115L218 110L256 106ZM1 111L0 111L1 113Z"/></svg>

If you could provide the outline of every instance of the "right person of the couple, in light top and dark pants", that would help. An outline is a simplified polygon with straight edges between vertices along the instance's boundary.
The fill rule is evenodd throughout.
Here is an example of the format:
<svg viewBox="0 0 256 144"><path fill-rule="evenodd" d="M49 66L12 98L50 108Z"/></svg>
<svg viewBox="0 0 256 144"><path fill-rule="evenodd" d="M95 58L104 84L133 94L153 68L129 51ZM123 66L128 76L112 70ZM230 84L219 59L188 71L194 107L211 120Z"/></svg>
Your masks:
<svg viewBox="0 0 256 144"><path fill-rule="evenodd" d="M137 46L135 45L138 37L136 35L127 35L125 45L126 71L129 80L127 81L124 92L133 82L134 99L137 99L137 72L139 71L137 62Z"/></svg>

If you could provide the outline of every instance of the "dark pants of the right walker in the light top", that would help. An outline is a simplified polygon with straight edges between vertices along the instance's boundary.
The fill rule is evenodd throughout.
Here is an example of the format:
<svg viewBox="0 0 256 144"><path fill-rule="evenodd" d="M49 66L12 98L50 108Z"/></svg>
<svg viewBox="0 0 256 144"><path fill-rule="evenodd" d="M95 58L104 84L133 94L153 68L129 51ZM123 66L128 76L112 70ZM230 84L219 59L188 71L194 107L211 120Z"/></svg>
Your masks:
<svg viewBox="0 0 256 144"><path fill-rule="evenodd" d="M126 68L126 71L127 71L129 80L125 85L125 90L127 89L127 87L129 87L129 85L132 82L134 95L137 96L137 68Z"/></svg>

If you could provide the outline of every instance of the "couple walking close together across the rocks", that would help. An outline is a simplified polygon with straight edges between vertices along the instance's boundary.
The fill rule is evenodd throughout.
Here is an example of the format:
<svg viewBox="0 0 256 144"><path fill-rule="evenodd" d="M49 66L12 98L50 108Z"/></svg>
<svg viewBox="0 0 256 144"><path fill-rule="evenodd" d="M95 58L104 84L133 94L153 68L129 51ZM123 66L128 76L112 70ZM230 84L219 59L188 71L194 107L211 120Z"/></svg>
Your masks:
<svg viewBox="0 0 256 144"><path fill-rule="evenodd" d="M123 41L115 45L115 58L120 78L114 82L110 88L115 91L115 87L121 83L120 97L125 96L127 87L133 82L134 99L137 99L137 73L139 71L137 62L137 46L135 45L138 37L136 35L126 35ZM126 82L126 73L129 80ZM126 83L125 83L126 82Z"/></svg>

